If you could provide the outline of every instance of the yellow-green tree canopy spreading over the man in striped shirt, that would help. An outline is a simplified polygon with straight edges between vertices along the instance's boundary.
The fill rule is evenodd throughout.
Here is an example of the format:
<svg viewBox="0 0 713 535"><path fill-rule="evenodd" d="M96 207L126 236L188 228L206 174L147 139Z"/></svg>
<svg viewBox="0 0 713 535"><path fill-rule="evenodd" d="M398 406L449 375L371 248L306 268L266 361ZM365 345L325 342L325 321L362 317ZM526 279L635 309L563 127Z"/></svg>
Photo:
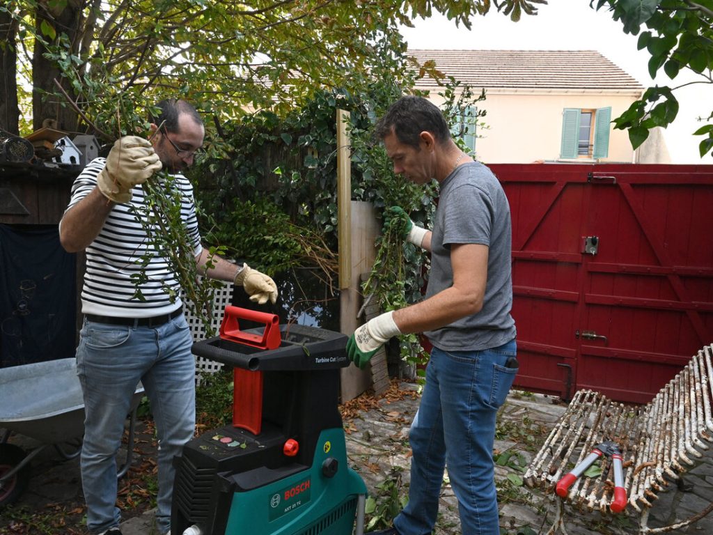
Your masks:
<svg viewBox="0 0 713 535"><path fill-rule="evenodd" d="M517 19L543 2L494 4ZM8 0L0 128L17 133L51 119L116 136L125 131L119 96L139 105L181 96L225 117L285 113L316 88L349 90L389 51L403 51L399 24L438 11L469 26L490 10L490 0Z"/></svg>

